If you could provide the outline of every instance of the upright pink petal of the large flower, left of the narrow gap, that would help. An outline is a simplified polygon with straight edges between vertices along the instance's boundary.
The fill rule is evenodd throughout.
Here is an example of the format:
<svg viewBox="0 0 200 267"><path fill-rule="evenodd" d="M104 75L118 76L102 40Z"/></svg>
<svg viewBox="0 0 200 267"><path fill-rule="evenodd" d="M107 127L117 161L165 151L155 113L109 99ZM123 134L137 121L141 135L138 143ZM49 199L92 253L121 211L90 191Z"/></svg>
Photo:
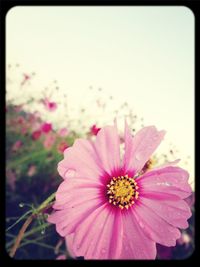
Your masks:
<svg viewBox="0 0 200 267"><path fill-rule="evenodd" d="M102 168L110 176L114 176L120 169L120 140L116 124L106 126L98 132L94 147Z"/></svg>

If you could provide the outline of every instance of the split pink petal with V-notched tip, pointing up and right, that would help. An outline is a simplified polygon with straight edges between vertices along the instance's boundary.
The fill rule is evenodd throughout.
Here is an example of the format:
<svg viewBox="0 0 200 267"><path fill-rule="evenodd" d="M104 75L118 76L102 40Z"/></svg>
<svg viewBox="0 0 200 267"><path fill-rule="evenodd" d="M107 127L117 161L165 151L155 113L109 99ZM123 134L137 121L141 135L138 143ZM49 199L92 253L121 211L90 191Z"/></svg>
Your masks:
<svg viewBox="0 0 200 267"><path fill-rule="evenodd" d="M136 174L140 171L159 146L164 135L165 131L157 131L156 127L148 126L142 128L133 138L130 128L125 123L124 172Z"/></svg>

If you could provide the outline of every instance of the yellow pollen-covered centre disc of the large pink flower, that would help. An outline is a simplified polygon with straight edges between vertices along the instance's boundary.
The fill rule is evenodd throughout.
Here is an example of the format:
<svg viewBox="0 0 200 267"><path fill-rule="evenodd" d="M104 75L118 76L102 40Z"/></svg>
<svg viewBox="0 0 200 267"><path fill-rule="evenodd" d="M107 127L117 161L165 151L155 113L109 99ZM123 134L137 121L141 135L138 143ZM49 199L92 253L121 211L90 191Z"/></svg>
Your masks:
<svg viewBox="0 0 200 267"><path fill-rule="evenodd" d="M128 175L113 177L107 187L109 202L120 209L131 207L139 195L136 181Z"/></svg>

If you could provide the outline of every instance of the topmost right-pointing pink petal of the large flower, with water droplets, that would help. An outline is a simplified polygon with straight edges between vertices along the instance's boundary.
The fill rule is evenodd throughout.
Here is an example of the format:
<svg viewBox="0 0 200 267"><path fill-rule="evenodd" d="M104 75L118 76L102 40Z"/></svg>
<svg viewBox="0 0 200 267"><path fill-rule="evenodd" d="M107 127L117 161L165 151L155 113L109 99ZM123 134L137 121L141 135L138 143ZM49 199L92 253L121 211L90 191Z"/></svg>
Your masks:
<svg viewBox="0 0 200 267"><path fill-rule="evenodd" d="M192 192L188 177L188 172L182 168L169 166L149 171L136 180L142 194L167 193L184 199Z"/></svg>

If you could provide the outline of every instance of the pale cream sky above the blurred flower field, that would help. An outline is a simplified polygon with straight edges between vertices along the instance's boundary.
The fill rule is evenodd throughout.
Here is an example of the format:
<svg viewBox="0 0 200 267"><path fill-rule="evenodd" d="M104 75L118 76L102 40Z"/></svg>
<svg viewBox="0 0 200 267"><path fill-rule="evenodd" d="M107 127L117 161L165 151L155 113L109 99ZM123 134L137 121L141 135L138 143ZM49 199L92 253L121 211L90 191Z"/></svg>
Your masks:
<svg viewBox="0 0 200 267"><path fill-rule="evenodd" d="M111 110L126 101L145 125L167 131L166 142L175 144L181 158L190 157L186 168L191 181L194 178L194 15L190 9L15 7L6 17L6 59L7 64L20 63L27 73L36 72L32 94L40 94L57 80L67 94L71 114L84 103L89 123L98 118L90 86L114 97ZM13 87L15 94L23 98L26 92ZM52 116L64 126L62 116ZM166 142L160 151L166 149Z"/></svg>

